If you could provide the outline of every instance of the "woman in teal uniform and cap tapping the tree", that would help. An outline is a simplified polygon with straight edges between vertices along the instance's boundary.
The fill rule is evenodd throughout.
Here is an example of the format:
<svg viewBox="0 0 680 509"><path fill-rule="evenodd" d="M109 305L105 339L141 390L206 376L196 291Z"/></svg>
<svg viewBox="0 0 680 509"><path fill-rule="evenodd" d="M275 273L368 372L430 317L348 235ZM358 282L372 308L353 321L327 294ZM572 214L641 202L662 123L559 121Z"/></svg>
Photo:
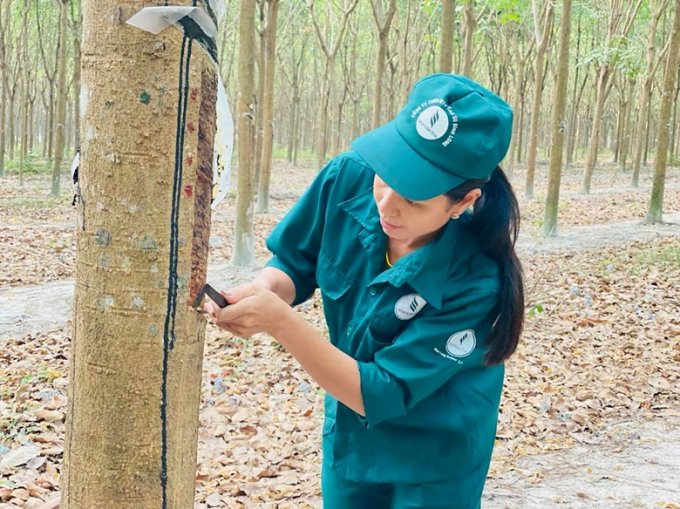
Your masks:
<svg viewBox="0 0 680 509"><path fill-rule="evenodd" d="M276 338L325 389L326 509L480 507L524 312L498 167L511 127L479 84L422 79L319 173L262 273L226 308L206 304L232 334ZM330 342L291 307L316 288Z"/></svg>

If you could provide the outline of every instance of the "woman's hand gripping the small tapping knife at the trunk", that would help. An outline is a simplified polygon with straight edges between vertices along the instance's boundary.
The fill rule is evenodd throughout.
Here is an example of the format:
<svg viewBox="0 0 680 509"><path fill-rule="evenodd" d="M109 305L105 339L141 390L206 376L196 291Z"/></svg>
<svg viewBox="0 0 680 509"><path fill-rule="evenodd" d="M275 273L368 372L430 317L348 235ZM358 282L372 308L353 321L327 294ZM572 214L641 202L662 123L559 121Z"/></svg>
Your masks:
<svg viewBox="0 0 680 509"><path fill-rule="evenodd" d="M229 305L218 307L207 302L205 310L211 321L220 329L248 338L258 332L276 337L276 331L285 327L293 309L264 285L247 283L229 292L220 292Z"/></svg>

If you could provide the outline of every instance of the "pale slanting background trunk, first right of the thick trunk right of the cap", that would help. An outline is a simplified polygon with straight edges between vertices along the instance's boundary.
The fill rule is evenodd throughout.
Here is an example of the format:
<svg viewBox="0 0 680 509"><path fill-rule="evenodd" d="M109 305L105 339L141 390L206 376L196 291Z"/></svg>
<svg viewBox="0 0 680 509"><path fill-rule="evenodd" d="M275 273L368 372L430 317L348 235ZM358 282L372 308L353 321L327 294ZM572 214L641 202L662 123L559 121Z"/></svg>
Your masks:
<svg viewBox="0 0 680 509"><path fill-rule="evenodd" d="M588 159L583 171L583 183L581 192L590 193L590 182L593 178L595 165L597 164L598 151L600 149L600 130L605 102L612 88L612 78L618 61L620 46L628 37L633 27L633 22L640 10L643 0L630 2L629 0L609 0L609 23L604 42L604 55L597 66L597 95L595 99L595 113L593 115L593 127L588 142Z"/></svg>

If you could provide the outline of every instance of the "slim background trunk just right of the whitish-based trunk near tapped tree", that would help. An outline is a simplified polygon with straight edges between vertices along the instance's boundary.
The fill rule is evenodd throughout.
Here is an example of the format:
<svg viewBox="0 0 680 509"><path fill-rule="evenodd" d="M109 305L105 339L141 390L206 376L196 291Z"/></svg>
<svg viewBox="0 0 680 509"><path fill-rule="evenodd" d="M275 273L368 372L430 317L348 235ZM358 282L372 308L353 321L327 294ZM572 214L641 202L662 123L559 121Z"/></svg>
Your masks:
<svg viewBox="0 0 680 509"><path fill-rule="evenodd" d="M269 209L269 182L272 173L272 154L274 150L274 71L276 65L276 27L279 17L279 0L267 0L267 59L265 62L264 105L262 122L264 140L262 142L262 168L260 170L257 192L257 211Z"/></svg>

